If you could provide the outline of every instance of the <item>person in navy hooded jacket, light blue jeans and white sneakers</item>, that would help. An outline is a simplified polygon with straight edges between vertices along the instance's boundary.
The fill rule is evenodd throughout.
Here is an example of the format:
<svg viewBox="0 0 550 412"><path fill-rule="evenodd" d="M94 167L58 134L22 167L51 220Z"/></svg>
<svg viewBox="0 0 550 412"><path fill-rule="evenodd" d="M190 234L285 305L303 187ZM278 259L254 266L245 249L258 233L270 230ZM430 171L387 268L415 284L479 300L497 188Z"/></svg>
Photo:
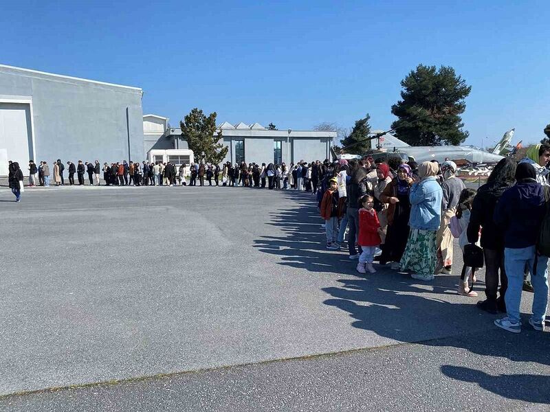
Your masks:
<svg viewBox="0 0 550 412"><path fill-rule="evenodd" d="M494 222L504 231L504 256L508 290L506 291L507 317L494 321L509 332L521 332L520 303L523 286L523 269L529 265L534 288L533 316L529 324L535 330L544 330L548 304L548 258L538 257L536 273L533 266L536 243L542 219L546 212L544 190L538 183L535 168L520 163L516 169L516 185L500 197L494 211Z"/></svg>

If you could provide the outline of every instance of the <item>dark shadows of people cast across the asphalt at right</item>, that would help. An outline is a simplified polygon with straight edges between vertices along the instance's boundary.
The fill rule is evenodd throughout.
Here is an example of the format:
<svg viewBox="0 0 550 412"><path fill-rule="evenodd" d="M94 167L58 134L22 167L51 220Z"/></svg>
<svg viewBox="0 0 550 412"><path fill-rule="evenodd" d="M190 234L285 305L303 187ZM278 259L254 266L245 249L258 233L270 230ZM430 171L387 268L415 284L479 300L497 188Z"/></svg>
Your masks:
<svg viewBox="0 0 550 412"><path fill-rule="evenodd" d="M279 255L280 264L285 266L316 273L346 274L346 279L338 279L337 287L322 288L331 297L323 303L348 312L353 328L370 330L401 342L459 347L483 356L550 365L550 334L528 330L527 319L524 319L522 334L498 330L492 323L499 316L481 312L472 300L456 295L458 276L440 275L430 284L419 285L408 275L380 266L377 266L378 273L359 275L355 271L357 261L350 261L347 251L325 250L325 233L320 227L322 220L314 196L296 192L283 194L301 207L272 212L269 224L281 227L285 236L262 236L254 247ZM483 282L478 281L479 297L475 301L484 299L483 288ZM434 334L452 338L434 339ZM477 334L485 338L490 334L494 339L488 345L483 339L477 339ZM441 367L441 372L456 380L476 382L506 398L550 402L548 376L491 376L480 370L450 365Z"/></svg>

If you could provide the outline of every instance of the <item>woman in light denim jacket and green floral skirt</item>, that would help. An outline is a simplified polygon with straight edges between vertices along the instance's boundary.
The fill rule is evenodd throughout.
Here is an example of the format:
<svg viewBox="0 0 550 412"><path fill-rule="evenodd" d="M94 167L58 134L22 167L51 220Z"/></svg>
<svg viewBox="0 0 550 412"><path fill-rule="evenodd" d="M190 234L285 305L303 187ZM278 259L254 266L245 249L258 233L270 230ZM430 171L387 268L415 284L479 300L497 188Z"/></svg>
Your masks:
<svg viewBox="0 0 550 412"><path fill-rule="evenodd" d="M412 271L412 279L434 279L436 233L441 223L443 192L437 183L438 165L425 161L419 165L419 179L410 187L410 218L407 246L401 258L401 271Z"/></svg>

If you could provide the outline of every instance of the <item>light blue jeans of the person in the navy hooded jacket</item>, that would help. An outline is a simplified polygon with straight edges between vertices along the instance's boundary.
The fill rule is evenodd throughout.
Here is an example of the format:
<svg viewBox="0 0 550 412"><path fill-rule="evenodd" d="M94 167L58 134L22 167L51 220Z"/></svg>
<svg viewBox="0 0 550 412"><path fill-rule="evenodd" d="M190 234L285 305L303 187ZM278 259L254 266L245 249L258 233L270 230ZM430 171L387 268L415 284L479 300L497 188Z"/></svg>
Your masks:
<svg viewBox="0 0 550 412"><path fill-rule="evenodd" d="M523 269L529 266L533 295L533 321L544 322L548 305L548 258L538 257L537 273L533 274L535 262L535 247L522 249L504 249L504 265L508 277L508 289L504 297L508 317L512 321L520 321L521 291L523 287Z"/></svg>

